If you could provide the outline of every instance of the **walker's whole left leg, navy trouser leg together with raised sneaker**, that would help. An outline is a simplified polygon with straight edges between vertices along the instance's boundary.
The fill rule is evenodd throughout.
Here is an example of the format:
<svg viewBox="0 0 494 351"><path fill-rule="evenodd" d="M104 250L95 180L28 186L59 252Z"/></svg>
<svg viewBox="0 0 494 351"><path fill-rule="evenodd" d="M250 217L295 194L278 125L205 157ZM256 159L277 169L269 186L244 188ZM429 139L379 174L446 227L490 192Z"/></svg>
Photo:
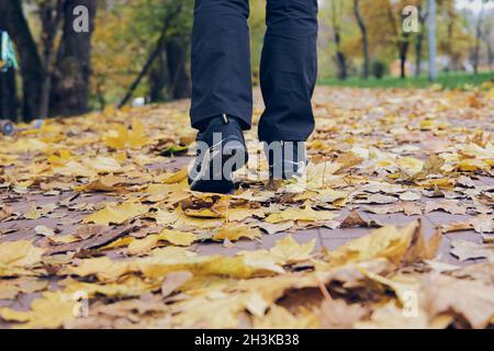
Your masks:
<svg viewBox="0 0 494 351"><path fill-rule="evenodd" d="M191 190L235 191L233 173L248 160L243 129L250 128L252 87L248 0L195 0L192 34L192 126L198 157Z"/></svg>

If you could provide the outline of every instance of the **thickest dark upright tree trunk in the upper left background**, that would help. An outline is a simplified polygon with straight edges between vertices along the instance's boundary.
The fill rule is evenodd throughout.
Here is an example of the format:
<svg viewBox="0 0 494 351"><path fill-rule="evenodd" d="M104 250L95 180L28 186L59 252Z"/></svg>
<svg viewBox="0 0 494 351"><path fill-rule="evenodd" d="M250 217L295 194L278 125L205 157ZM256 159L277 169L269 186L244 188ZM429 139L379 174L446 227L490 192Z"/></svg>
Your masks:
<svg viewBox="0 0 494 351"><path fill-rule="evenodd" d="M88 31L76 32L75 8L89 10ZM91 37L94 31L97 0L66 0L64 33L53 75L52 115L80 115L89 109L89 77L91 75Z"/></svg>

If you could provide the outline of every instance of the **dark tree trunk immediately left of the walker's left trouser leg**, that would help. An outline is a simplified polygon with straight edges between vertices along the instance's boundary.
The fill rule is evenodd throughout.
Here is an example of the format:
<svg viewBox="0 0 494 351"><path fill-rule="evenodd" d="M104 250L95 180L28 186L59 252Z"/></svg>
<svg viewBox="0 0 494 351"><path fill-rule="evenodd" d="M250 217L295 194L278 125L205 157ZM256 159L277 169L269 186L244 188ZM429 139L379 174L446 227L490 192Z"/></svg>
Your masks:
<svg viewBox="0 0 494 351"><path fill-rule="evenodd" d="M187 53L179 37L167 41L169 92L172 100L187 99L191 94L191 82L187 73Z"/></svg>

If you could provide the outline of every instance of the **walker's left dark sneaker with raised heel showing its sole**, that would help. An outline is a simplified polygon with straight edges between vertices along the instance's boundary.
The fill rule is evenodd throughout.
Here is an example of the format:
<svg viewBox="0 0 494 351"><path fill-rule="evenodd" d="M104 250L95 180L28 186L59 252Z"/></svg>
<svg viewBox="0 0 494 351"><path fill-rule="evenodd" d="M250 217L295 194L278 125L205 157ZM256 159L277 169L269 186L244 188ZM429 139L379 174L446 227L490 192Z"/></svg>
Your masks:
<svg viewBox="0 0 494 351"><path fill-rule="evenodd" d="M240 122L227 115L214 117L198 134L195 162L189 171L192 191L229 194L235 191L233 173L248 162Z"/></svg>

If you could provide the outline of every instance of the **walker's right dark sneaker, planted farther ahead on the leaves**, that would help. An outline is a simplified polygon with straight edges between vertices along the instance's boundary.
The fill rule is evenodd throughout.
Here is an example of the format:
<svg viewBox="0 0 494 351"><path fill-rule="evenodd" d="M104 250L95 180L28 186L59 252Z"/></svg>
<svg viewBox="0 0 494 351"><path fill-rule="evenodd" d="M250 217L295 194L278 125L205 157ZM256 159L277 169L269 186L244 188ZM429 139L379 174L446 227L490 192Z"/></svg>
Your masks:
<svg viewBox="0 0 494 351"><path fill-rule="evenodd" d="M291 180L305 176L307 151L304 141L265 143L271 180Z"/></svg>

